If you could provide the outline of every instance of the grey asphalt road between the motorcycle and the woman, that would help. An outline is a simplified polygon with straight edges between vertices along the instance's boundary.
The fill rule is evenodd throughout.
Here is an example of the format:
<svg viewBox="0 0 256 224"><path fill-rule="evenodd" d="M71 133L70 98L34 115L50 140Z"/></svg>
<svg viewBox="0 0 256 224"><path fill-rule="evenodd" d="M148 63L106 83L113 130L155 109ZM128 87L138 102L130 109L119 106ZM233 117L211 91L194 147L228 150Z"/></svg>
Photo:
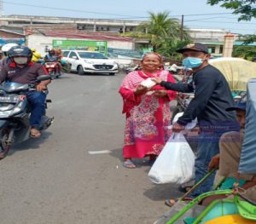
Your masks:
<svg viewBox="0 0 256 224"><path fill-rule="evenodd" d="M122 166L124 77L65 74L50 84L55 123L0 161L1 224L153 223L168 210L176 187L154 185L143 159Z"/></svg>

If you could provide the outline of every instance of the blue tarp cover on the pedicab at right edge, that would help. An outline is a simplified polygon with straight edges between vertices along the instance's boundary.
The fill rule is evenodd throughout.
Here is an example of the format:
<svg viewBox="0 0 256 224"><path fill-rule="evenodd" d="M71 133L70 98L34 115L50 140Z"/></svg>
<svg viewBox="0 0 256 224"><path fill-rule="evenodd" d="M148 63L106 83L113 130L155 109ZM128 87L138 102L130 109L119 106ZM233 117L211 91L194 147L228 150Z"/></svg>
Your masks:
<svg viewBox="0 0 256 224"><path fill-rule="evenodd" d="M239 172L256 174L256 78L247 83L246 127Z"/></svg>

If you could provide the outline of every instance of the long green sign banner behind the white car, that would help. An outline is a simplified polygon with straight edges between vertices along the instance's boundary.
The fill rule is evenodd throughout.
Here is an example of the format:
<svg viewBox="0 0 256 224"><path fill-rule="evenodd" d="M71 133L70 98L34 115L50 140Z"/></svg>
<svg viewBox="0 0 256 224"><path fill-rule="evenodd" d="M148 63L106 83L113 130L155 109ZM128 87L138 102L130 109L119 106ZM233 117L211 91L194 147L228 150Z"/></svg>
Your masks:
<svg viewBox="0 0 256 224"><path fill-rule="evenodd" d="M54 49L84 49L108 54L107 41L90 40L53 40Z"/></svg>

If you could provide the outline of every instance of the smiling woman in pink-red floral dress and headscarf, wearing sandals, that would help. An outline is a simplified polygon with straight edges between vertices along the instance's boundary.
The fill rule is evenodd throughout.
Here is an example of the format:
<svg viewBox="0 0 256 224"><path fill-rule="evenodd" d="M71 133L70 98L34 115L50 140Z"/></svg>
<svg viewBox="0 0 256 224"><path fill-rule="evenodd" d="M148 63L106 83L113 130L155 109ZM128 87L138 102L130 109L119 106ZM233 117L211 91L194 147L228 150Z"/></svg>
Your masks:
<svg viewBox="0 0 256 224"><path fill-rule="evenodd" d="M159 85L148 88L142 83L156 77L175 83L172 75L161 69L162 66L161 55L144 55L142 70L126 75L119 89L124 101L123 113L126 114L123 148L126 168L136 168L131 158L149 156L149 163L153 163L171 135L167 128L171 119L169 102L176 98L176 92Z"/></svg>

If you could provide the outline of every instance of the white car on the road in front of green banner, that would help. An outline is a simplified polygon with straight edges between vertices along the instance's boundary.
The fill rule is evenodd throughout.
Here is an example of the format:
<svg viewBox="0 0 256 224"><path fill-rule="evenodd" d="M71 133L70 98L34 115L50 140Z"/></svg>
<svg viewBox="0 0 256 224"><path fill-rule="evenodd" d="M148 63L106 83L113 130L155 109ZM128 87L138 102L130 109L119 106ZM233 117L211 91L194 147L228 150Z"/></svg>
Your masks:
<svg viewBox="0 0 256 224"><path fill-rule="evenodd" d="M63 60L71 63L71 72L85 73L108 73L114 75L119 72L119 65L106 55L96 51L87 50L62 50Z"/></svg>

